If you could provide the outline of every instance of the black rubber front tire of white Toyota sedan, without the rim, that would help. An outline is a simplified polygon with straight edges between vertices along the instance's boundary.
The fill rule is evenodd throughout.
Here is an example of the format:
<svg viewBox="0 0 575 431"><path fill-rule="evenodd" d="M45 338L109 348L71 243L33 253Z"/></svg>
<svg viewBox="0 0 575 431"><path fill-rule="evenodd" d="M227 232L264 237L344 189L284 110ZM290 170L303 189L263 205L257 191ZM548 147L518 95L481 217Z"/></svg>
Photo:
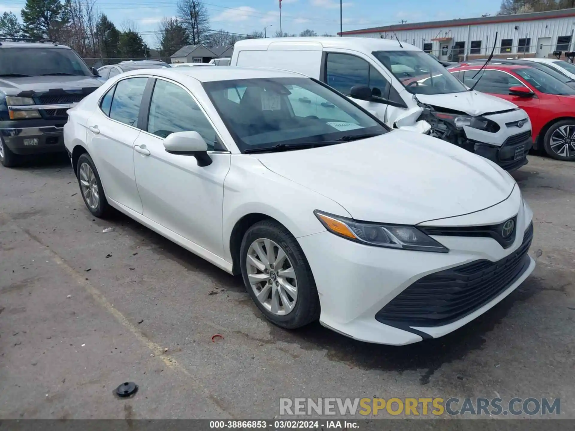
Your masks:
<svg viewBox="0 0 575 431"><path fill-rule="evenodd" d="M258 300L252 289L247 274L247 253L250 245L259 238L266 238L281 246L289 258L297 277L296 305L285 315L270 313ZM266 318L282 328L294 329L316 321L320 316L320 300L317 294L315 280L308 260L305 258L300 244L284 226L273 220L264 220L251 226L241 241L240 248L241 276L251 298Z"/></svg>

